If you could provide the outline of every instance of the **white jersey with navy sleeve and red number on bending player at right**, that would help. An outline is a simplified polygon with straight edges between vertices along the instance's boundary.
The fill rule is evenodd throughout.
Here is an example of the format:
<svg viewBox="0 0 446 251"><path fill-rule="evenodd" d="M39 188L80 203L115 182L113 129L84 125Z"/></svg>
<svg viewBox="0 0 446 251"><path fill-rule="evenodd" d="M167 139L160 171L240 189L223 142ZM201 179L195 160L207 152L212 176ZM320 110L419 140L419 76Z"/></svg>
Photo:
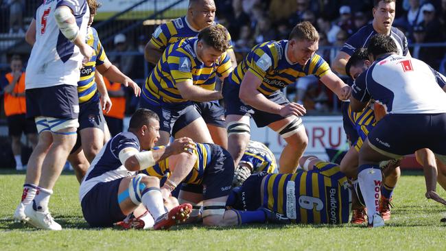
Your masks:
<svg viewBox="0 0 446 251"><path fill-rule="evenodd" d="M416 58L384 56L375 60L353 84L353 97L373 98L388 113L435 114L446 112L446 77Z"/></svg>

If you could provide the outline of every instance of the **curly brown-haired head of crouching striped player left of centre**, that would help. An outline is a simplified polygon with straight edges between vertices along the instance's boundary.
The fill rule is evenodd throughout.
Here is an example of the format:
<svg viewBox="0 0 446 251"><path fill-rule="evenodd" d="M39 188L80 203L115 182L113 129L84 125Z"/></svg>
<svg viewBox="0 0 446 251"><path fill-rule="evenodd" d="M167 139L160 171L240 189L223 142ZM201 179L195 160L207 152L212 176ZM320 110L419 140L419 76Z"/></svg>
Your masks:
<svg viewBox="0 0 446 251"><path fill-rule="evenodd" d="M228 47L228 34L221 25L211 25L198 34L197 56L207 67L211 67Z"/></svg>

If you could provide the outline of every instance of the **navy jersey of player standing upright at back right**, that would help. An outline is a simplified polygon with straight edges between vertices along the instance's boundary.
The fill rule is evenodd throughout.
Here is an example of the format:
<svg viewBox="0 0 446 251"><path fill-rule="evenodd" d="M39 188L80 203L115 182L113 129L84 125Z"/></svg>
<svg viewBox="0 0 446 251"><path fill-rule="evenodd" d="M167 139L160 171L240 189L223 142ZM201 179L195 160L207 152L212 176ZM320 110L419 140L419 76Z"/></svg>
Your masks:
<svg viewBox="0 0 446 251"><path fill-rule="evenodd" d="M372 24L365 25L355 34L353 34L349 39L347 39L347 42L344 43L341 51L344 51L351 56L351 54L353 54L356 49L366 48L368 46L370 38L377 33L378 32L373 29ZM406 36L404 36L403 32L395 27L391 27L390 36L393 38L393 40L395 40L395 43L397 43L399 55L406 56L409 52L409 47L408 40Z"/></svg>

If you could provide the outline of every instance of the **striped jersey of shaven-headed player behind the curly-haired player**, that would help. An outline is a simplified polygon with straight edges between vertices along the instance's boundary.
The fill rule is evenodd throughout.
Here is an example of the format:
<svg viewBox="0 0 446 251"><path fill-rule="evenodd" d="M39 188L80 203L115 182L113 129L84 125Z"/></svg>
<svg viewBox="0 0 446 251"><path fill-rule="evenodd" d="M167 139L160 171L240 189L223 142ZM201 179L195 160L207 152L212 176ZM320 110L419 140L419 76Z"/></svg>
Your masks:
<svg viewBox="0 0 446 251"><path fill-rule="evenodd" d="M220 26L223 27L223 25ZM152 34L152 38L150 38L149 43L151 43L155 48L162 49L164 51L167 45L176 43L184 38L194 38L198 36L198 33L200 33L200 31L191 27L191 25L187 22L186 16L182 16L178 19L173 19L172 21L159 25L159 27L157 27ZM231 45L228 50L232 50L233 45L231 35L229 35L229 32L226 34L228 35L228 43Z"/></svg>

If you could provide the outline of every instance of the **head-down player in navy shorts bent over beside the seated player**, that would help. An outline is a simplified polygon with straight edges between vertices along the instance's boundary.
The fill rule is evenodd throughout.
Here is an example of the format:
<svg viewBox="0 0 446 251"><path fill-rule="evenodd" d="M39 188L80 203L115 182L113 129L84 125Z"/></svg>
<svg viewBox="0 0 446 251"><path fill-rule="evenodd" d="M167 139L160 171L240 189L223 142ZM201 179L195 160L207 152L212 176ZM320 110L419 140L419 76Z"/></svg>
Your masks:
<svg viewBox="0 0 446 251"><path fill-rule="evenodd" d="M148 167L143 173L163 178L161 193L165 200L183 182L178 202L193 206L189 222L197 222L202 218L203 224L207 226L237 224L235 213L225 211L234 163L231 154L220 145L196 143L192 154L170 156Z"/></svg>

